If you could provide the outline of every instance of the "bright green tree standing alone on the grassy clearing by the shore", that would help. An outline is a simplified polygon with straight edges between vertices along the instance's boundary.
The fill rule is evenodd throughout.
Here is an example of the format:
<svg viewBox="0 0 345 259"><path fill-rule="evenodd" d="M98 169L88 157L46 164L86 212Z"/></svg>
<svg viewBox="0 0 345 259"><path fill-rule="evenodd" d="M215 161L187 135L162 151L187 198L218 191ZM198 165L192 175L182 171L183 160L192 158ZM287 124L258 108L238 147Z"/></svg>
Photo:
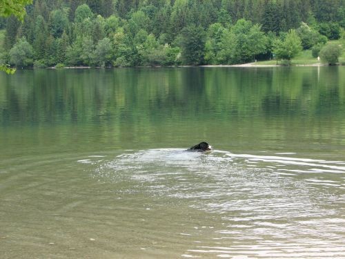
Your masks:
<svg viewBox="0 0 345 259"><path fill-rule="evenodd" d="M302 41L297 36L295 30L290 30L285 39L275 41L275 53L277 59L290 60L296 57L302 51Z"/></svg>

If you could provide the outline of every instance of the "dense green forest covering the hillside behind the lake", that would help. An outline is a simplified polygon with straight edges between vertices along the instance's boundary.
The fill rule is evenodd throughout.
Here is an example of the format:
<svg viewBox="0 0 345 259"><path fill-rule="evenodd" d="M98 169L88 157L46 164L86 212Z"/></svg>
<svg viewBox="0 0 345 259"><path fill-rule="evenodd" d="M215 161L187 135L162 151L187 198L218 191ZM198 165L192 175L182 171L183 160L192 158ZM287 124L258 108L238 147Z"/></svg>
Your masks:
<svg viewBox="0 0 345 259"><path fill-rule="evenodd" d="M345 0L34 0L0 18L0 64L181 66L290 60L344 39ZM324 50L325 49L325 50ZM341 52L333 46L330 52ZM328 63L335 63L329 61Z"/></svg>

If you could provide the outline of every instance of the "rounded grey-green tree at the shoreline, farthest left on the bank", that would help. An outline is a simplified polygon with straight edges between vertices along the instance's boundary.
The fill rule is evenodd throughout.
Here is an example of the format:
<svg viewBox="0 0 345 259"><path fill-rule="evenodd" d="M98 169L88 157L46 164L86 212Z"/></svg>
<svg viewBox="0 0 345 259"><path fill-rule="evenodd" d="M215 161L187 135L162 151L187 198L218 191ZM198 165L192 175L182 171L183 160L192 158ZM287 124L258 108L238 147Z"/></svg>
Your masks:
<svg viewBox="0 0 345 259"><path fill-rule="evenodd" d="M10 50L10 63L17 67L31 66L33 61L32 46L25 38L19 39Z"/></svg>

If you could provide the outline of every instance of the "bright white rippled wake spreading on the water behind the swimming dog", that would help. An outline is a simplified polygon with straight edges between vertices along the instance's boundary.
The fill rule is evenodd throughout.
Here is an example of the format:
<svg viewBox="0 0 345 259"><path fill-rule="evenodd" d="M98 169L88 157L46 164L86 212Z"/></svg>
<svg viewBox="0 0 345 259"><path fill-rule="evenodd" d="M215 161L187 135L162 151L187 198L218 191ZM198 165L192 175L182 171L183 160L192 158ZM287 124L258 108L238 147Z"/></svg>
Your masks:
<svg viewBox="0 0 345 259"><path fill-rule="evenodd" d="M287 155L152 149L119 155L95 177L136 182L122 191L140 189L218 218L217 227L184 233L200 239L182 257L344 256L344 162Z"/></svg>

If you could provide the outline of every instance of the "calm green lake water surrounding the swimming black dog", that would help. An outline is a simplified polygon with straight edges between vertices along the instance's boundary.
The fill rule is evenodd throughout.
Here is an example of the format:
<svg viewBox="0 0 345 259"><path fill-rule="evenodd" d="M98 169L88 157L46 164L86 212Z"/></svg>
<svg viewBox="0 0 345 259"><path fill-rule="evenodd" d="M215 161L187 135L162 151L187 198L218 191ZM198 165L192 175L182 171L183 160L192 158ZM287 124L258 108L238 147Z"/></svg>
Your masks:
<svg viewBox="0 0 345 259"><path fill-rule="evenodd" d="M1 73L0 146L1 258L345 258L344 66Z"/></svg>

